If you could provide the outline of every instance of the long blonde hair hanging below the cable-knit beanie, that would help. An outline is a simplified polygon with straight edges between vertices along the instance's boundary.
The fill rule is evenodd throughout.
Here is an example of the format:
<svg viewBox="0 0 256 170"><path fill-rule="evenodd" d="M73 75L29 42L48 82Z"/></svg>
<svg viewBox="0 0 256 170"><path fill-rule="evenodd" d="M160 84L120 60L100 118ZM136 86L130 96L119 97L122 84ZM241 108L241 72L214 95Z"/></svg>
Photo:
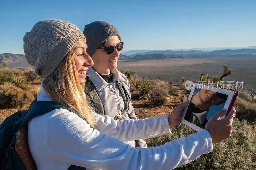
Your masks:
<svg viewBox="0 0 256 170"><path fill-rule="evenodd" d="M80 85L77 75L73 50L60 61L55 70L42 82L47 96L54 102L76 110L92 128L96 126L92 108L88 105L84 85Z"/></svg>

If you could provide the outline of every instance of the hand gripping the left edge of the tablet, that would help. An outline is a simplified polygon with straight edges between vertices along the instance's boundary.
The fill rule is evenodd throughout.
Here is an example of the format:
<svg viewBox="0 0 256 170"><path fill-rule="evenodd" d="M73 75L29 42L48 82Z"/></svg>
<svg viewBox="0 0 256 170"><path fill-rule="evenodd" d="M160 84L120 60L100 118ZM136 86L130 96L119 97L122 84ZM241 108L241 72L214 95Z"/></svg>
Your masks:
<svg viewBox="0 0 256 170"><path fill-rule="evenodd" d="M183 103L180 103L170 115L168 115L169 127L177 126L180 124L181 115L183 110L188 106L188 100Z"/></svg>

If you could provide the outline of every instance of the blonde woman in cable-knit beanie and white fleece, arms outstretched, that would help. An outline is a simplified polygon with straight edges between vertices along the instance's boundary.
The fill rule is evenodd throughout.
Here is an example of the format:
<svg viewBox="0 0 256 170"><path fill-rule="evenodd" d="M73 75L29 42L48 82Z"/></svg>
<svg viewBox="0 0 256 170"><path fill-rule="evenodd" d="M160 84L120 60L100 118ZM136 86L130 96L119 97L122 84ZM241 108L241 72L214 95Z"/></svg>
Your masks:
<svg viewBox="0 0 256 170"><path fill-rule="evenodd" d="M93 65L86 48L82 32L62 20L40 21L24 36L26 59L43 77L37 101L61 103L84 117L56 109L28 123L28 144L37 169L68 169L71 165L86 169L172 169L211 152L212 142L230 137L233 117L217 120L224 114L222 110L208 121L205 130L188 137L151 148L124 144L120 140L170 133L169 127L180 124L188 101L169 116L148 119L116 121L92 112L84 103L86 71ZM235 116L235 110L230 114ZM134 133L127 133L127 129Z"/></svg>

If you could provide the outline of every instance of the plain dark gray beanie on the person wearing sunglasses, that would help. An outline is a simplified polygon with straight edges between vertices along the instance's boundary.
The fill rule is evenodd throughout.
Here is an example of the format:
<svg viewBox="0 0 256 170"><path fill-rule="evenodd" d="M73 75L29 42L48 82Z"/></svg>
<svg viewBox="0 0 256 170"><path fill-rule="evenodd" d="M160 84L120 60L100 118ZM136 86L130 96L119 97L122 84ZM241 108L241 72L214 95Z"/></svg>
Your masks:
<svg viewBox="0 0 256 170"><path fill-rule="evenodd" d="M121 36L116 27L105 21L95 21L85 25L83 33L86 37L87 53L90 56L109 37L117 35L121 41Z"/></svg>

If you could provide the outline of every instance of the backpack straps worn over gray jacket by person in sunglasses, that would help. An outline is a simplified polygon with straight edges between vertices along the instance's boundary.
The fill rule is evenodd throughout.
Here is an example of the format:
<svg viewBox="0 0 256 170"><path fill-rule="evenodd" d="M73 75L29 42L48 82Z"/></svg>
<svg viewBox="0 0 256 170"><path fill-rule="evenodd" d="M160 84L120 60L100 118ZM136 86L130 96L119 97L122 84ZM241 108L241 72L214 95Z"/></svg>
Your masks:
<svg viewBox="0 0 256 170"><path fill-rule="evenodd" d="M92 81L90 80L90 78L87 76L85 81L85 93L88 96L88 101L91 104L91 106L95 109L95 112L97 114L100 115L105 115L105 107L104 107L104 102L102 100L102 98L100 97L99 91L96 89L95 85L92 83ZM124 110L121 111L119 114L117 114L115 117L113 117L116 120L119 120L120 117L123 116L124 113L127 112L127 115L130 119L132 119L132 117L128 114L128 110L129 110L129 104L130 101L132 101L130 95L128 94L127 90L125 89L125 87L123 86L123 82L122 81L116 81L116 84L122 94L125 106L124 106ZM139 147L139 141L135 140L135 147Z"/></svg>

